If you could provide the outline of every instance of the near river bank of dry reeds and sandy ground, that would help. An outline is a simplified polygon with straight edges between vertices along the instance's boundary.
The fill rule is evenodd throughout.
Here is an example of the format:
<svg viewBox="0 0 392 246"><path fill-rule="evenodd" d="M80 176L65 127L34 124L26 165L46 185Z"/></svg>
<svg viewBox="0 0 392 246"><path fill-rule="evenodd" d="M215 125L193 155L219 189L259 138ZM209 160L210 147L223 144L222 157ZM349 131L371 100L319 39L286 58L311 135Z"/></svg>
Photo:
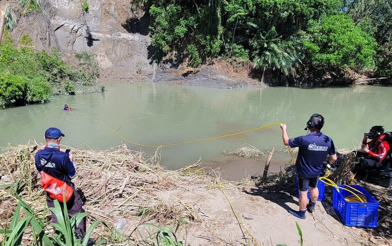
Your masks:
<svg viewBox="0 0 392 246"><path fill-rule="evenodd" d="M17 180L18 193L38 216L42 215L45 196L33 164L34 153L42 147L30 143L0 154L0 172L9 178L8 182L1 181L5 185L0 196L2 226L17 204L12 195ZM125 220L116 242L110 242L115 238L110 229L100 225L95 230L95 237L109 243L142 242L148 236L148 228L140 226L139 232L134 232L139 224L149 222L174 229L182 218L186 219L176 236L182 242L186 240L187 245L295 245L299 240L296 220L287 213L287 208L297 207L293 190L266 190L254 183L230 182L216 170L199 169L196 165L166 170L159 165L159 152L151 157L124 145L103 151L72 149L72 152L77 170L73 181L86 198L89 224L99 220L114 226L120 219ZM373 229L343 226L330 209L328 202L318 203L313 215L297 221L305 245L390 242L385 241L389 240L387 235L374 236ZM45 221L48 225L49 214ZM46 229L51 232L50 226ZM24 237L26 243L32 242L29 233L27 230Z"/></svg>

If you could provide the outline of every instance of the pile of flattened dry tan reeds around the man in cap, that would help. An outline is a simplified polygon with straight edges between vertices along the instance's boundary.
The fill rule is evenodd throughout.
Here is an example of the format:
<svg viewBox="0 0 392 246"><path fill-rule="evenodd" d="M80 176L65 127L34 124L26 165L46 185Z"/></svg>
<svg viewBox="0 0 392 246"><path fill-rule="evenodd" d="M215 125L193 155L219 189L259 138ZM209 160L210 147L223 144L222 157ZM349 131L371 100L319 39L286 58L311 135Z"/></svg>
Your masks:
<svg viewBox="0 0 392 246"><path fill-rule="evenodd" d="M9 186L0 189L0 204L7 201L11 207L16 207L18 201L13 196L13 189L18 180L18 194L38 216L42 216L46 201L34 156L43 147L29 142L2 149L0 173L7 175L11 181L7 183ZM148 210L145 221L155 220L165 225L175 224L181 218L200 221L203 213L196 209L196 202L189 203L178 198L165 201L160 198L168 189L183 188L187 191L189 184L205 187L211 183L210 177L198 175L198 163L170 171L159 165L160 148L154 157L129 150L125 144L108 150L67 148L73 153L77 170L73 182L82 199L85 199L86 211L95 219L113 225L120 217L132 220L140 216L139 210L144 207ZM0 181L0 184L4 183ZM3 212L2 207L0 210L6 217L0 222L4 226L11 219L12 210L8 213ZM47 223L49 219L50 213L47 213Z"/></svg>

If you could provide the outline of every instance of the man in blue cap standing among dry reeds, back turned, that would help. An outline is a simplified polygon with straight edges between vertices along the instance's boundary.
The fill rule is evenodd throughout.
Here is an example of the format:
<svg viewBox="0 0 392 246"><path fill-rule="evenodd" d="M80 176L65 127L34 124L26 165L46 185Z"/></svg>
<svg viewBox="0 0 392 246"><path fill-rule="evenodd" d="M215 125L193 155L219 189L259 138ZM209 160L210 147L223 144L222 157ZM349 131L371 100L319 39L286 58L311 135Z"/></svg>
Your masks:
<svg viewBox="0 0 392 246"><path fill-rule="evenodd" d="M82 200L75 190L75 185L71 182L72 177L75 175L76 170L73 165L73 155L60 151L60 141L65 136L60 129L51 127L45 132L44 139L46 146L43 150L39 150L35 154L35 166L40 170L41 165L45 166L42 171L50 176L66 182L73 189L73 196L67 201L68 215L70 217L75 214L84 212L82 208ZM47 194L46 200L48 207L54 207L53 199ZM63 203L60 202L63 206ZM52 213L52 222L57 223L56 216ZM75 233L82 239L86 235L86 220L82 220L78 224Z"/></svg>

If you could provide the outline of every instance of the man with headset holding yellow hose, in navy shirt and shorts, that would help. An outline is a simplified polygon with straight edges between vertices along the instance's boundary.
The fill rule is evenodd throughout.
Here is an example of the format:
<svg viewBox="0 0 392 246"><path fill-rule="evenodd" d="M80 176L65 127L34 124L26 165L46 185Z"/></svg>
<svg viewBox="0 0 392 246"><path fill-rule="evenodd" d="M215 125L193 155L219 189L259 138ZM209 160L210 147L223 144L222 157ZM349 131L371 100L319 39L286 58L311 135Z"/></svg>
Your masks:
<svg viewBox="0 0 392 246"><path fill-rule="evenodd" d="M306 122L305 130L310 134L289 139L286 124L280 124L283 132L283 143L291 148L299 147L295 161L295 171L299 187L299 211L289 209L289 213L297 218L305 219L306 210L315 211L316 201L319 197L317 183L322 169L322 162L328 157L328 163L336 161L335 145L332 139L320 132L324 125L324 117L313 114ZM308 190L310 187L310 201L308 203Z"/></svg>

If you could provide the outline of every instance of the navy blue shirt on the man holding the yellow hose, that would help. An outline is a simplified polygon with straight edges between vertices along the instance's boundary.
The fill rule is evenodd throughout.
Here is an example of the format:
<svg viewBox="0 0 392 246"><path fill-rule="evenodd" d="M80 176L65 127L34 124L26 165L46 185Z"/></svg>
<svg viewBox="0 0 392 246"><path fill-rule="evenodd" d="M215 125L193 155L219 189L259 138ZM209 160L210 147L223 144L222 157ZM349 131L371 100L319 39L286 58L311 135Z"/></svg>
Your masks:
<svg viewBox="0 0 392 246"><path fill-rule="evenodd" d="M290 147L299 147L295 168L299 176L311 179L319 177L322 162L328 155L335 155L332 139L322 133L310 133L289 139Z"/></svg>

